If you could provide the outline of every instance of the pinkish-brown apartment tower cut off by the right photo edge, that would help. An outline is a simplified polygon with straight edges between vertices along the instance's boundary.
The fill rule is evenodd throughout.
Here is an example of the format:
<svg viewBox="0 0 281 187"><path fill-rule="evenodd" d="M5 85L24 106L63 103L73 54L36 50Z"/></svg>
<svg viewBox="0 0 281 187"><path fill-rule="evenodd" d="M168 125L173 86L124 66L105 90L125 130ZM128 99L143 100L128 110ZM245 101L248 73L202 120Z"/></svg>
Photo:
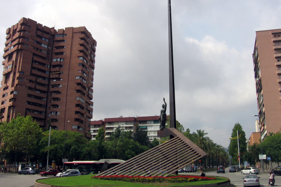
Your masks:
<svg viewBox="0 0 281 187"><path fill-rule="evenodd" d="M281 29L256 31L254 78L261 138L281 130Z"/></svg>

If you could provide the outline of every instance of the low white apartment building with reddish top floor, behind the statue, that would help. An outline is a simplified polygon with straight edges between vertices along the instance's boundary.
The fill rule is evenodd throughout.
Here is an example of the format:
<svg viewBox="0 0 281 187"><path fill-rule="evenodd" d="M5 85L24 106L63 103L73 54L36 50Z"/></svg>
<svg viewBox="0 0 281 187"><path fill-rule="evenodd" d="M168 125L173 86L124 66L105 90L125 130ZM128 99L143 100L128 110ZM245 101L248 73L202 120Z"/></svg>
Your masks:
<svg viewBox="0 0 281 187"><path fill-rule="evenodd" d="M137 125L147 131L150 141L153 141L154 138L160 140L160 138L157 137L157 130L160 129L159 116L105 118L104 120L92 121L92 140L95 140L95 136L100 127L104 128L105 138L107 139L118 127L121 128L121 130L131 131L133 133Z"/></svg>

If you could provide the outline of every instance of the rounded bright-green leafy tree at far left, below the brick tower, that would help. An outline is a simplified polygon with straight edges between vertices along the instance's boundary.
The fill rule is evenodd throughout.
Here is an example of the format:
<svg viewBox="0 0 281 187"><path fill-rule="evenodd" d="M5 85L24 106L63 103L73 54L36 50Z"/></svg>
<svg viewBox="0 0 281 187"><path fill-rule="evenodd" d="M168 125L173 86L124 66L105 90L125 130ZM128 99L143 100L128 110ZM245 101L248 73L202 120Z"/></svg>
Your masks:
<svg viewBox="0 0 281 187"><path fill-rule="evenodd" d="M4 144L1 149L4 149L5 153L13 152L12 150L16 153L24 152L27 158L38 144L41 128L31 116L23 117L18 114L9 123L1 123L0 134Z"/></svg>

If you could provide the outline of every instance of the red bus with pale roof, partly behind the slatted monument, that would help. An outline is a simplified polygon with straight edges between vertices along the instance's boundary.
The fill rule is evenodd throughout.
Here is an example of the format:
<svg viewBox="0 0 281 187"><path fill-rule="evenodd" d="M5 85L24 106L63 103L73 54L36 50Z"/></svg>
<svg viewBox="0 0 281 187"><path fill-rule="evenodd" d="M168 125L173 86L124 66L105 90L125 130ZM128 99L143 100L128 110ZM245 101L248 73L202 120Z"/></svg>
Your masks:
<svg viewBox="0 0 281 187"><path fill-rule="evenodd" d="M125 162L120 159L100 159L98 161L72 161L63 163L63 171L78 169L82 175L98 174L118 164Z"/></svg>

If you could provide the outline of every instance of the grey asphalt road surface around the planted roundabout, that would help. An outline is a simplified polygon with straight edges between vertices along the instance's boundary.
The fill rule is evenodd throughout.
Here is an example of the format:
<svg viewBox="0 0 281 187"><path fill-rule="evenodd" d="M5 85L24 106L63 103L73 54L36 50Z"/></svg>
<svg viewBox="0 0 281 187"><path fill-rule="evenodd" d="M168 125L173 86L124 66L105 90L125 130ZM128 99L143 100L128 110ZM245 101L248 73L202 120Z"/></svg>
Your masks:
<svg viewBox="0 0 281 187"><path fill-rule="evenodd" d="M200 173L179 173L185 175L200 175ZM243 177L241 173L229 173L228 170L225 173L217 172L205 172L206 177L208 176L220 176L227 177L230 179L230 183L236 187L243 187ZM260 186L268 187L268 173L258 174L260 177ZM37 179L42 179L46 177L41 177L39 174L35 175L18 175L18 174L6 174L0 173L0 187L33 187L34 181ZM275 186L281 186L281 176L275 176Z"/></svg>

